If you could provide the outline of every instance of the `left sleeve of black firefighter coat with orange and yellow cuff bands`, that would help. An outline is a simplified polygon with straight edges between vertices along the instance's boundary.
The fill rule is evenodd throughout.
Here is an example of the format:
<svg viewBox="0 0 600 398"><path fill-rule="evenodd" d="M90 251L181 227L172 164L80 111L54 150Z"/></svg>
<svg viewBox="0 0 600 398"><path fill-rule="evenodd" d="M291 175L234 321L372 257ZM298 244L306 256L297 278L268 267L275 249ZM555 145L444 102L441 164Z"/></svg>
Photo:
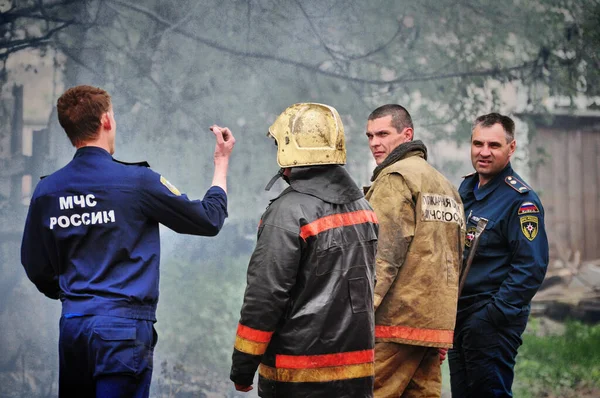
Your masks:
<svg viewBox="0 0 600 398"><path fill-rule="evenodd" d="M235 336L230 373L234 383L252 384L296 283L302 246L299 229L284 229L267 220L260 227Z"/></svg>

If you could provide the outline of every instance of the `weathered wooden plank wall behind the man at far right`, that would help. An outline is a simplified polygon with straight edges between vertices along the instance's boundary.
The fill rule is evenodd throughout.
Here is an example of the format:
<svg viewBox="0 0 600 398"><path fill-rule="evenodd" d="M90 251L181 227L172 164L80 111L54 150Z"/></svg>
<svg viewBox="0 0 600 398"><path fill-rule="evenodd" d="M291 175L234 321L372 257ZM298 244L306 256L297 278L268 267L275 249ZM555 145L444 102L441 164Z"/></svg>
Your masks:
<svg viewBox="0 0 600 398"><path fill-rule="evenodd" d="M531 185L546 210L551 259L564 250L600 259L600 112L530 120Z"/></svg>

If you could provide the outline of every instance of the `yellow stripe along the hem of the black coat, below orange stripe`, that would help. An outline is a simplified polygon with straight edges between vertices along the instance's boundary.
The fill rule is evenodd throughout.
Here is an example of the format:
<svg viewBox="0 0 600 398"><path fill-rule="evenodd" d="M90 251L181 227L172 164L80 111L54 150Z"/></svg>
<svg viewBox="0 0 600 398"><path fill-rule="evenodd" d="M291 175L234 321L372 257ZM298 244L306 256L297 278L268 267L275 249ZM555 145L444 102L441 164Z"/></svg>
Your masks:
<svg viewBox="0 0 600 398"><path fill-rule="evenodd" d="M265 379L285 383L314 383L372 377L375 374L375 368L373 363L361 363L314 369L276 369L261 363L258 367L258 374Z"/></svg>

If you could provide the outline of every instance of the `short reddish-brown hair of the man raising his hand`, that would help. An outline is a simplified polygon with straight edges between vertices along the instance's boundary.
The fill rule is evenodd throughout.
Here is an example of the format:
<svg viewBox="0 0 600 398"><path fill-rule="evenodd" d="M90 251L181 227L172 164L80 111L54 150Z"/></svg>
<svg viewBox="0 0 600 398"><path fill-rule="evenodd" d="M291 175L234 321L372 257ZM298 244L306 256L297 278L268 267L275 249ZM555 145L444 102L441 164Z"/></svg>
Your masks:
<svg viewBox="0 0 600 398"><path fill-rule="evenodd" d="M98 87L71 87L60 96L56 102L58 121L73 146L96 138L102 114L110 105L110 95Z"/></svg>

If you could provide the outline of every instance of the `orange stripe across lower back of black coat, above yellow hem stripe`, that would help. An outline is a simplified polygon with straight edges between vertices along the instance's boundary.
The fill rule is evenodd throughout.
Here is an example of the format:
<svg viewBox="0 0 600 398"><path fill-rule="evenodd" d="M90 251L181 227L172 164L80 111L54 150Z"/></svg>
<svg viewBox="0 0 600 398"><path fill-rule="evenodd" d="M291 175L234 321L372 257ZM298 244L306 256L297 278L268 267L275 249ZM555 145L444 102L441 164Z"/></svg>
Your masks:
<svg viewBox="0 0 600 398"><path fill-rule="evenodd" d="M355 365L373 362L374 360L374 350L340 352L324 355L277 355L275 357L275 366L278 369L311 369L328 366Z"/></svg>

